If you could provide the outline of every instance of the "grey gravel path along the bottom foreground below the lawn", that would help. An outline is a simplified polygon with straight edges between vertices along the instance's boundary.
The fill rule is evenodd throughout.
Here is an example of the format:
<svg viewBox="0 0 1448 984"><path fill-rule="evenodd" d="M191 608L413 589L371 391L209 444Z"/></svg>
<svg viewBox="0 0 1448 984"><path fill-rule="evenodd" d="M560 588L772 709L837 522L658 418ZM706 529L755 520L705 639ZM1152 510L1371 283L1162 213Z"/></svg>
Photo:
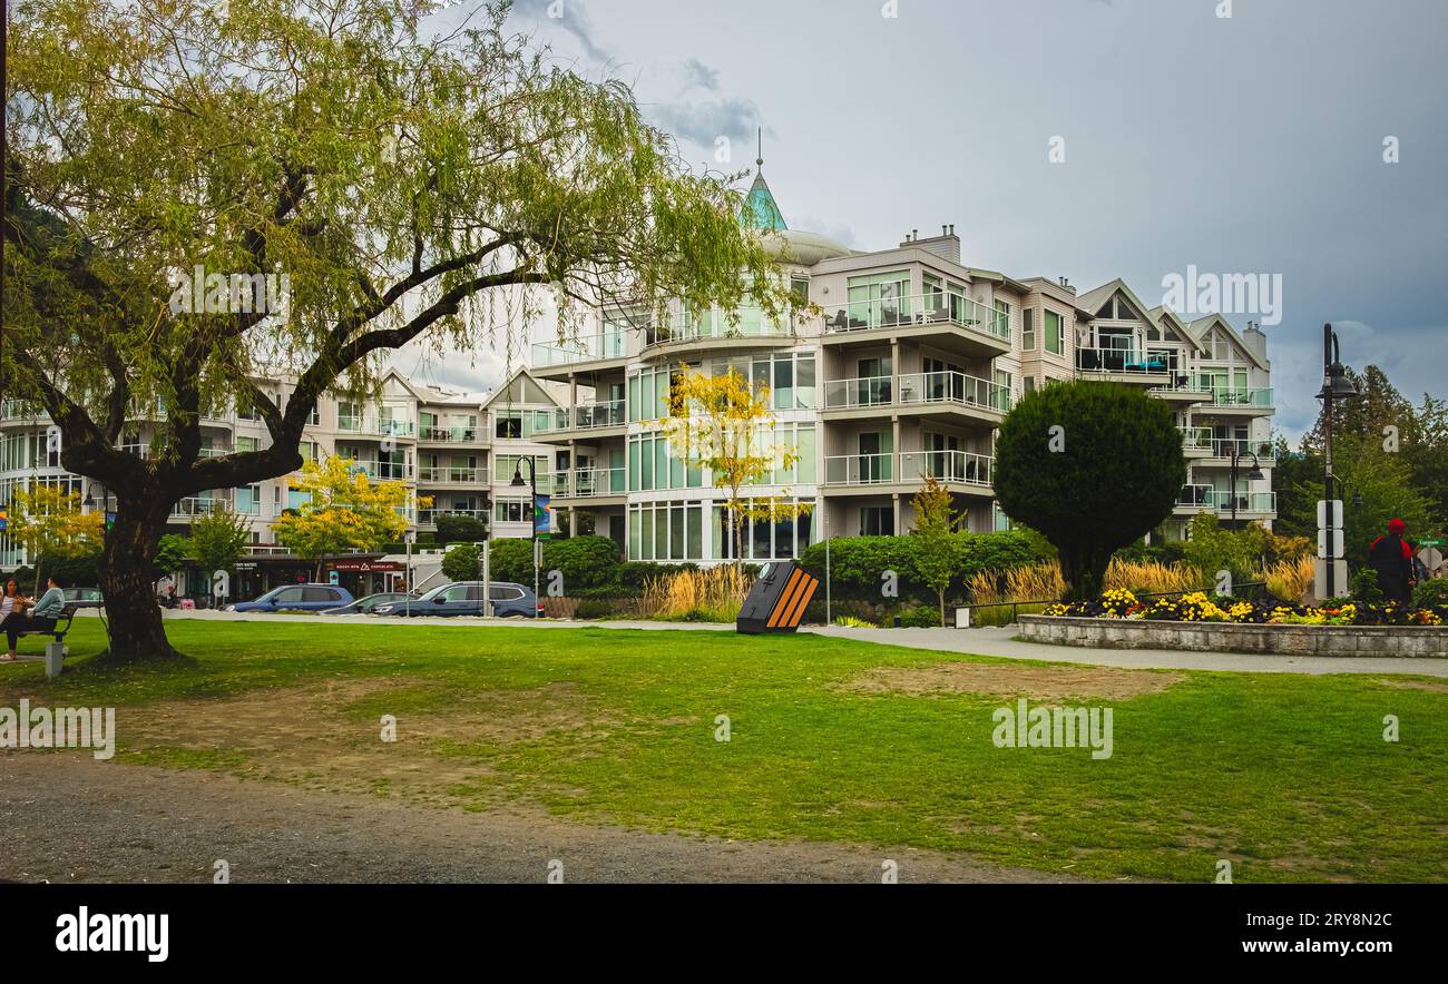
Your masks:
<svg viewBox="0 0 1448 984"><path fill-rule="evenodd" d="M0 751L0 881L236 883L1070 881L970 855L859 844L725 841L588 826L540 809L473 813L206 771Z"/></svg>

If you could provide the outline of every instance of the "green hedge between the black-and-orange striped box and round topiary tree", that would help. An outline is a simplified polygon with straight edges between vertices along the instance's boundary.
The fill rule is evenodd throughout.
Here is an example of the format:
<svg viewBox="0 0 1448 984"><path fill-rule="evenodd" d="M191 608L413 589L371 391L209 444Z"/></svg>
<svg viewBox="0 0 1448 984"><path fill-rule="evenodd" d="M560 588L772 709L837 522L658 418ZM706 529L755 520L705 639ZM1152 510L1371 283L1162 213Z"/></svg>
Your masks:
<svg viewBox="0 0 1448 984"><path fill-rule="evenodd" d="M960 567L950 579L947 598L964 598L964 582L982 570L1009 570L1051 559L1048 547L1030 533L957 533ZM824 579L824 543L812 544L801 564ZM935 602L935 592L925 585L915 566L915 537L840 537L830 541L830 593L841 601L882 601L883 574L893 570L899 579L899 601Z"/></svg>

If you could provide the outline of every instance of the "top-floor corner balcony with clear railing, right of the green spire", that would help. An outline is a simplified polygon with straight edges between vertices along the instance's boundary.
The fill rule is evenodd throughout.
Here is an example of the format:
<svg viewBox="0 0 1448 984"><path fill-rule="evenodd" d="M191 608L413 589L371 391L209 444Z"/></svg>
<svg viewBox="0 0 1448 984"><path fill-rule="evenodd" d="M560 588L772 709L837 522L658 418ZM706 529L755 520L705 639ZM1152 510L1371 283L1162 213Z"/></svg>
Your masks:
<svg viewBox="0 0 1448 984"><path fill-rule="evenodd" d="M941 336L941 328L950 331ZM930 336L934 342L954 334L956 343L947 347L976 357L993 357L1011 350L1011 315L961 294L849 301L833 315L825 314L825 344L879 342L882 334Z"/></svg>

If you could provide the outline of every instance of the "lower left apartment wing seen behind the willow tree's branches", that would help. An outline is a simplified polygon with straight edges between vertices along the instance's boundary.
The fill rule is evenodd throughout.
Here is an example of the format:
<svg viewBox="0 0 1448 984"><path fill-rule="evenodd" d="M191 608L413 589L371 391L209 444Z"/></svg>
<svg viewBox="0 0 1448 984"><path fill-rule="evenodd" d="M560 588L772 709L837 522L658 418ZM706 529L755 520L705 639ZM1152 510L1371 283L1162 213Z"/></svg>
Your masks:
<svg viewBox="0 0 1448 984"><path fill-rule="evenodd" d="M285 408L290 382L258 382ZM495 537L527 537L533 530L530 492L514 486L513 479L518 473L529 479L524 459L530 459L537 469L539 492L552 485L555 447L533 436L552 421L557 408L557 399L527 369L518 369L487 395L418 383L394 370L381 381L376 398L329 395L319 401L303 436L301 454L317 462L346 457L372 479L403 482L408 489L405 512L414 530L434 531L437 517L450 514L487 521ZM165 411L136 408L133 414L120 447L146 456ZM68 473L59 456L48 453L49 425L49 417L36 407L14 399L0 402L0 504L12 499L16 486L54 485L85 496L85 509L101 509L103 485ZM258 450L271 440L261 415L248 411L206 417L201 431L206 456ZM277 517L307 498L294 479L284 476L190 496L172 509L169 528L184 533L195 517L216 509L251 517L255 560L243 567L243 593L308 574L310 566L291 559L272 528ZM25 550L0 533L0 567L26 561ZM258 572L256 585L246 572Z"/></svg>

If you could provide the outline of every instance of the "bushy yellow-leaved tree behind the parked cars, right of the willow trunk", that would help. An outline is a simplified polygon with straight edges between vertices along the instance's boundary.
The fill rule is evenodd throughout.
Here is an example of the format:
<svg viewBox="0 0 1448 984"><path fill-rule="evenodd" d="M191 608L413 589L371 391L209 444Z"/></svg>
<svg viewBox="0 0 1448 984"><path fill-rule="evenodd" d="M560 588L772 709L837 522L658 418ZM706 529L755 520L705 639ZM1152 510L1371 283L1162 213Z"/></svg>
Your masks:
<svg viewBox="0 0 1448 984"><path fill-rule="evenodd" d="M277 517L272 528L277 543L316 563L319 579L324 557L376 550L407 531L407 485L374 482L353 459L306 462L291 486L310 498Z"/></svg>

